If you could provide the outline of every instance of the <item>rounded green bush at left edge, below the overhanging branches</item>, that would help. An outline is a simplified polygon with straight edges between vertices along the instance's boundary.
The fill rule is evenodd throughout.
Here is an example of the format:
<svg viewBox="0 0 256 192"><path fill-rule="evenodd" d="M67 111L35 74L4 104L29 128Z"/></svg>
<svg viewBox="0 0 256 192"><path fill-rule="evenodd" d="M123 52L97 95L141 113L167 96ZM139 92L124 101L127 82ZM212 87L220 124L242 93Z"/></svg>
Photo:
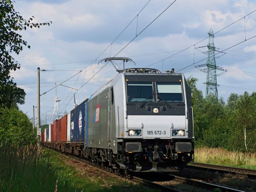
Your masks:
<svg viewBox="0 0 256 192"><path fill-rule="evenodd" d="M15 146L36 144L36 130L28 116L16 107L0 109L0 144L11 143Z"/></svg>

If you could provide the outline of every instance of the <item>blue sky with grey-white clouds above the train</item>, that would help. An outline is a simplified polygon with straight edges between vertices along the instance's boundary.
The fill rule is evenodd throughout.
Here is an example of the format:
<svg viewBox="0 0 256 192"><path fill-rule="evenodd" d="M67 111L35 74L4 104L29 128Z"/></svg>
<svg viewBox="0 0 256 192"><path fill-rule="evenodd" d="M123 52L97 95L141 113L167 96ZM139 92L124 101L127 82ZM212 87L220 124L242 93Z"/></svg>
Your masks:
<svg viewBox="0 0 256 192"><path fill-rule="evenodd" d="M14 8L24 19L52 21L20 32L31 48L14 56L21 68L11 72L26 92L26 103L19 107L31 118L37 105L37 68L45 70L40 71L41 124L56 118L55 83L63 116L74 108L74 93L79 104L117 73L110 63L99 63L107 57L136 63L127 62L125 68L174 68L186 78L197 78L205 96L207 74L200 70L205 67L195 66L206 64L211 28L216 66L227 70L217 76L219 98L227 102L231 93L256 91L254 0L20 0Z"/></svg>

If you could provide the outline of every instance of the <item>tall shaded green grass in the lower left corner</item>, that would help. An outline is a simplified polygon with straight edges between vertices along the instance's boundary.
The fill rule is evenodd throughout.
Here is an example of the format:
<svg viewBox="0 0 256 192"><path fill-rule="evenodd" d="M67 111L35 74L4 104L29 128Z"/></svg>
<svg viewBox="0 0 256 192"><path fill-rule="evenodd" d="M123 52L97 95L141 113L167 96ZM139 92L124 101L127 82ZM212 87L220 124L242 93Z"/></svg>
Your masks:
<svg viewBox="0 0 256 192"><path fill-rule="evenodd" d="M65 172L34 145L0 146L0 191L66 191L72 172Z"/></svg>

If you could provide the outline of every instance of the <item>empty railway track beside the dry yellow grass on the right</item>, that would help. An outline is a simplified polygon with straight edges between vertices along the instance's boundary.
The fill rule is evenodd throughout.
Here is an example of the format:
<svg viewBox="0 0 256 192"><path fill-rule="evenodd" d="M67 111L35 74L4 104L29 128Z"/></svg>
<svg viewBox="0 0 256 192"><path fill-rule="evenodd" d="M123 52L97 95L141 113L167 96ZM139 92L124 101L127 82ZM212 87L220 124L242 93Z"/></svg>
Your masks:
<svg viewBox="0 0 256 192"><path fill-rule="evenodd" d="M197 169L203 171L212 171L218 173L231 173L239 176L256 179L256 170L244 169L239 167L228 167L222 165L202 164L202 163L190 163L186 168Z"/></svg>

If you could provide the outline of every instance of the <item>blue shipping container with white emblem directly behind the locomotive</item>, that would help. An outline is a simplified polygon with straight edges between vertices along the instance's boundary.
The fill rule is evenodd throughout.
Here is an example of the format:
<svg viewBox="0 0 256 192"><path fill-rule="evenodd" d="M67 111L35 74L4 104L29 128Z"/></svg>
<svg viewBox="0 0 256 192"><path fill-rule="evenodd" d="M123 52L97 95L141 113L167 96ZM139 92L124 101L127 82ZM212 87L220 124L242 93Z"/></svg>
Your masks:
<svg viewBox="0 0 256 192"><path fill-rule="evenodd" d="M75 135L76 143L84 142L84 114L85 114L85 101L76 107L75 112Z"/></svg>

